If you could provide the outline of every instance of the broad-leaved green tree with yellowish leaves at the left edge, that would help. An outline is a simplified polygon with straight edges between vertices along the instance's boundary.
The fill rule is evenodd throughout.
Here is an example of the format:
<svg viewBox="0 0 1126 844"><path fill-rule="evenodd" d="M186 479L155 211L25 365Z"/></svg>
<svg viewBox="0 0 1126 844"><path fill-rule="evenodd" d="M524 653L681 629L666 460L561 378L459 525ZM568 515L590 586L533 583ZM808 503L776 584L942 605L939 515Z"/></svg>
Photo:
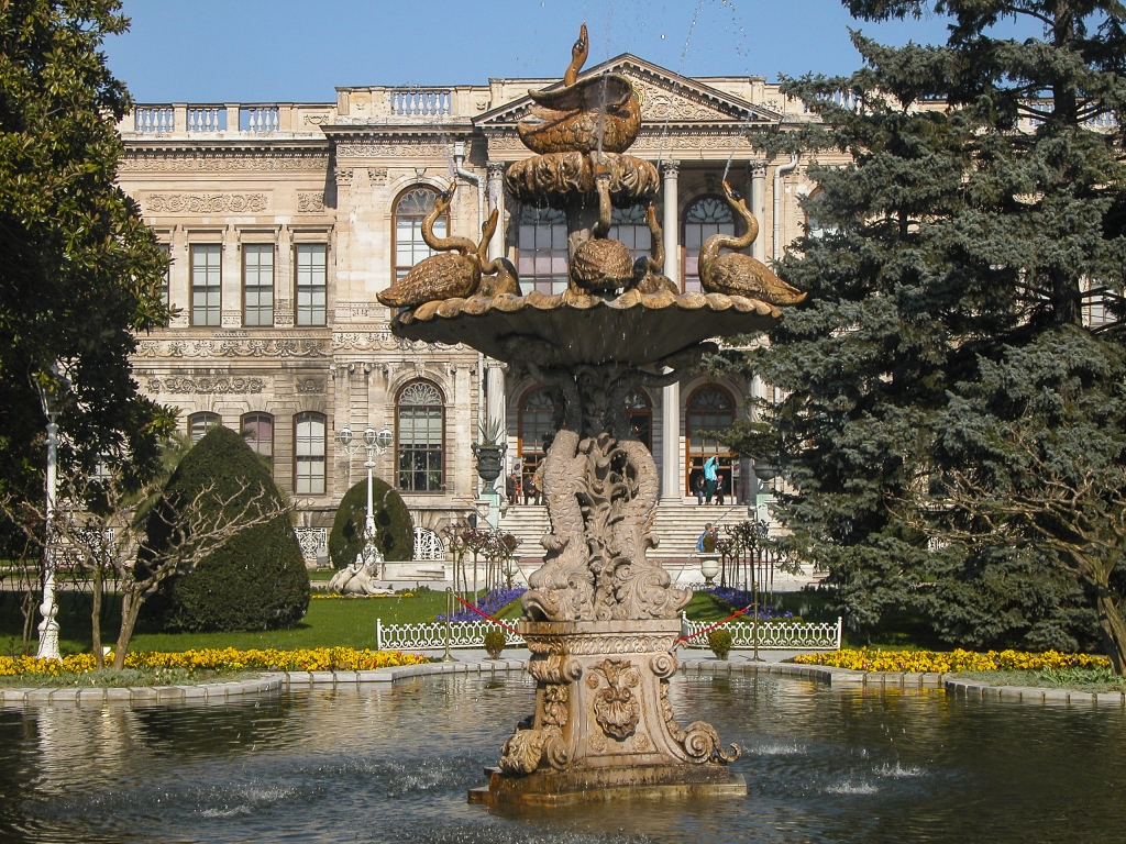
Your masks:
<svg viewBox="0 0 1126 844"><path fill-rule="evenodd" d="M131 101L100 51L118 0L0 3L0 485L42 486L36 387L71 381L63 452L155 463L170 413L137 392L137 332L164 324L167 260L115 183ZM42 493L38 493L42 497Z"/></svg>

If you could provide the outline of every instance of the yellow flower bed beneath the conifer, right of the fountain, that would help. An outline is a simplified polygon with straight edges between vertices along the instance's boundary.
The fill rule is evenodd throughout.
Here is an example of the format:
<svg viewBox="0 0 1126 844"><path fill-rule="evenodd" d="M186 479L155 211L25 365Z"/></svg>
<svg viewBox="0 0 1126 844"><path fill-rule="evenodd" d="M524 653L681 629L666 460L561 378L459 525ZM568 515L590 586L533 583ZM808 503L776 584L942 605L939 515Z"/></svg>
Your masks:
<svg viewBox="0 0 1126 844"><path fill-rule="evenodd" d="M1039 671L1040 668L1064 668L1109 666L1105 656L1089 654L1062 654L1046 650L1031 654L1027 650L990 650L978 654L973 650L872 650L851 648L831 654L802 654L794 657L802 665L829 665L834 668L854 671L902 671L908 673L935 672L949 674L958 671Z"/></svg>

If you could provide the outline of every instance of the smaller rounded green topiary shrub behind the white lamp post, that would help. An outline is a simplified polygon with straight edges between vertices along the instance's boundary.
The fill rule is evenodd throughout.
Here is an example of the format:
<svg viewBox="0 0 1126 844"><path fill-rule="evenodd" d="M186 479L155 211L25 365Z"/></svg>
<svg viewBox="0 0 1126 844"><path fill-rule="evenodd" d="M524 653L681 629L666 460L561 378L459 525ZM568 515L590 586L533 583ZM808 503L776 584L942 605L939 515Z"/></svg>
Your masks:
<svg viewBox="0 0 1126 844"><path fill-rule="evenodd" d="M375 511L375 545L390 562L414 556L414 524L403 496L384 481L372 478L372 509ZM337 568L356 562L364 546L367 517L367 478L345 493L329 533L329 557Z"/></svg>

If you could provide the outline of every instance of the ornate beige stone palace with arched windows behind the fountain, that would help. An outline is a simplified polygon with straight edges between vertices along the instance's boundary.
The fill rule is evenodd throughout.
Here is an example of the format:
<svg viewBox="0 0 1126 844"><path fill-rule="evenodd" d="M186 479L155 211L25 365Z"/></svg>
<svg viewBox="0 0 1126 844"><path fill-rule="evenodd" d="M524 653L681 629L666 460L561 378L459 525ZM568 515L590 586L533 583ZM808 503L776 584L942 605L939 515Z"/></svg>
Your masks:
<svg viewBox="0 0 1126 844"><path fill-rule="evenodd" d="M632 55L587 73L606 70L631 79L643 98L629 153L660 168L670 278L699 289L703 241L740 233L742 221L722 199L725 174L758 217L754 257L769 261L802 234L808 162L762 160L748 140L810 119L799 102L761 78L688 79ZM565 286L562 215L521 207L503 188L506 167L530 154L516 133L527 91L553 82L339 88L327 104L138 106L120 125L120 182L167 244L168 297L178 308L167 330L140 341L142 388L179 407L193 437L217 423L244 431L311 528L330 526L340 496L363 478L363 457L334 448L346 422L394 432L376 473L402 491L423 528L475 511L472 443L486 420L503 422L508 465L530 477L551 429L548 394L471 349L394 338L375 295L430 254L421 219L455 178L437 231L477 240L498 208L503 240L494 237L491 257L503 250L525 293ZM610 236L635 254L649 251L642 209L616 212L615 223ZM761 389L701 376L633 397L631 415L662 477L659 528L685 526L667 554L686 554L697 522L718 515L686 506L696 504L690 484L708 455L721 457L725 503L756 503L751 467L695 434L722 430ZM506 515L529 539L543 518L538 508ZM318 533L305 538L315 544Z"/></svg>

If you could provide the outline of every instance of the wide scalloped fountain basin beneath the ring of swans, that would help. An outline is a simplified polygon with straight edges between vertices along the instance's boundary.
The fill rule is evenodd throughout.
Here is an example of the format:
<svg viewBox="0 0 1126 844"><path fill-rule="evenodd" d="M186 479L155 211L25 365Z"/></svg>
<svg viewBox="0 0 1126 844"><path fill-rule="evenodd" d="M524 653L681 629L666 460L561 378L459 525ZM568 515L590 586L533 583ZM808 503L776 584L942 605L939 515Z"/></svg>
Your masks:
<svg viewBox="0 0 1126 844"><path fill-rule="evenodd" d="M564 293L546 296L453 298L402 311L392 332L408 340L464 343L497 360L519 361L551 348L556 365L656 363L705 340L766 331L778 323L774 305L711 293L638 294L617 298Z"/></svg>

